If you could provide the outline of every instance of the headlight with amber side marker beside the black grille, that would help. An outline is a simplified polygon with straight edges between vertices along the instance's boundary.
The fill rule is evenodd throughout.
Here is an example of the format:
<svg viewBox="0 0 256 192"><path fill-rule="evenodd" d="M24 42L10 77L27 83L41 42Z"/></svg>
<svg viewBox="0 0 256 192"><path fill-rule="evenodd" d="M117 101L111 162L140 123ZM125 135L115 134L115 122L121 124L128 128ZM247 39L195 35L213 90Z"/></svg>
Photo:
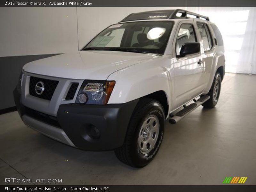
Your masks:
<svg viewBox="0 0 256 192"><path fill-rule="evenodd" d="M76 103L106 105L115 84L115 81L85 80L78 92Z"/></svg>

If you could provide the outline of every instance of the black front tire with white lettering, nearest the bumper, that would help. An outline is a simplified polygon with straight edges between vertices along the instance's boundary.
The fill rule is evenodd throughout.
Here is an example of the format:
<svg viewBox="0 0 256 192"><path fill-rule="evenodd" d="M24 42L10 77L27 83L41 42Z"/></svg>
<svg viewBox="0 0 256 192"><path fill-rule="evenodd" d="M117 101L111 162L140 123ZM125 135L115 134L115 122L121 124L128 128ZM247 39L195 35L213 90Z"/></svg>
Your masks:
<svg viewBox="0 0 256 192"><path fill-rule="evenodd" d="M144 123L145 125L145 122L148 123L148 121L146 120L148 118L152 119L153 117L158 118L159 120L158 136L155 135L154 139L156 139L156 141L154 141L155 142L154 146L152 145L153 146L152 147L150 145L152 147L151 151L149 151L148 153L145 152L143 154L138 144L140 141L140 138L142 138L142 136L144 137L144 134L141 134L141 132L143 132L142 124ZM155 121L154 118L152 121ZM149 120L150 122L151 122L151 119ZM157 120L155 121L155 123L158 123L158 122ZM130 123L127 128L127 133L126 133L123 146L115 149L116 157L124 164L130 165L136 168L141 168L149 164L152 161L152 159L156 156L156 153L158 152L160 145L162 143L162 140L164 137L164 124L165 124L165 115L164 115L164 109L161 103L154 99L141 98L132 114ZM152 127L153 126L154 125L152 125ZM145 131L143 133L145 133ZM149 131L149 134L150 134L150 131ZM147 141L143 140L143 142L146 143ZM147 146L148 146L148 143L147 143Z"/></svg>

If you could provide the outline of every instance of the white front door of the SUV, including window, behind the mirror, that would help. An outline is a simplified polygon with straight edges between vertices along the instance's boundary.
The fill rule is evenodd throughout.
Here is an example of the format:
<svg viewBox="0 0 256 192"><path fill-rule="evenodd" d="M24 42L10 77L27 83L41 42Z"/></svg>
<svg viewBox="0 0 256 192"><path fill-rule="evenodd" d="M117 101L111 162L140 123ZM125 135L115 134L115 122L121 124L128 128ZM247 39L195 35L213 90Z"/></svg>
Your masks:
<svg viewBox="0 0 256 192"><path fill-rule="evenodd" d="M178 108L184 103L201 94L204 85L202 82L202 55L201 53L180 57L180 49L184 43L199 42L193 21L180 21L176 31L172 52L174 64L174 101L173 108Z"/></svg>

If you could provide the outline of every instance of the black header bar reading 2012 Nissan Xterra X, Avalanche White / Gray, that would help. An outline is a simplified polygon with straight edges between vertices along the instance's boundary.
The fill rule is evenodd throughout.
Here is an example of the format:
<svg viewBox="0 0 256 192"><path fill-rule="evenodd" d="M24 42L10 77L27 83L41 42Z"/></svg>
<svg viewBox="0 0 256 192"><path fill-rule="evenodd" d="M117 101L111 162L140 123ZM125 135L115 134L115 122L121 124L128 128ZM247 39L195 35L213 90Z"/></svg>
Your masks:
<svg viewBox="0 0 256 192"><path fill-rule="evenodd" d="M0 7L256 7L256 0L1 0Z"/></svg>

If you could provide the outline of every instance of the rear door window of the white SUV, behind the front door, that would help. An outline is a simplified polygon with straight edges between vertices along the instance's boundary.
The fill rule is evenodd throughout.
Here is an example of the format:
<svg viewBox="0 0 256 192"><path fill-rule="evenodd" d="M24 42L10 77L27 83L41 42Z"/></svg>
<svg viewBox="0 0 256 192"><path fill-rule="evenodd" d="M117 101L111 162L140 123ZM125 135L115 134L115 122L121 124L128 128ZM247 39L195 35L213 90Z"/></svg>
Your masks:
<svg viewBox="0 0 256 192"><path fill-rule="evenodd" d="M209 29L204 23L196 23L201 39L203 41L204 51L209 51L212 49L212 38L210 36Z"/></svg>

